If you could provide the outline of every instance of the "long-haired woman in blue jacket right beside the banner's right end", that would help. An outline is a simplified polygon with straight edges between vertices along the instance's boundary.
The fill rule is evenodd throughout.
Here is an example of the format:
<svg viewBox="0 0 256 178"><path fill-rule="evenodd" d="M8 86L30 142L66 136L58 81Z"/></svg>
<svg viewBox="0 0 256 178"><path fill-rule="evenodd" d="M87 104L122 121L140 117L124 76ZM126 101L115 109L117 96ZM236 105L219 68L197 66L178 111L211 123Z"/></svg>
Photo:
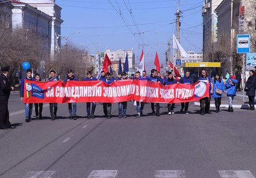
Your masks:
<svg viewBox="0 0 256 178"><path fill-rule="evenodd" d="M216 93L216 89L221 90L222 92L225 92L225 86L223 80L220 79L220 75L216 74L214 76L213 80L213 95L212 97L214 98L215 101L215 107L216 107L216 112L218 113L220 111L220 105L221 105L221 97L223 96L222 92Z"/></svg>

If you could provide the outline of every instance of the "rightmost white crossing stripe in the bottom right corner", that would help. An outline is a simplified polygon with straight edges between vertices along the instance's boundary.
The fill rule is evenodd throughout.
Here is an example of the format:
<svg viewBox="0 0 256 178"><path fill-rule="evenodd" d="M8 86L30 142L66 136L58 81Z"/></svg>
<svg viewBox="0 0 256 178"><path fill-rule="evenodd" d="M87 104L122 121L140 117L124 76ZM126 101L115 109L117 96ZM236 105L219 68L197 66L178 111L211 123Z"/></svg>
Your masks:
<svg viewBox="0 0 256 178"><path fill-rule="evenodd" d="M221 178L255 178L250 171L218 171Z"/></svg>

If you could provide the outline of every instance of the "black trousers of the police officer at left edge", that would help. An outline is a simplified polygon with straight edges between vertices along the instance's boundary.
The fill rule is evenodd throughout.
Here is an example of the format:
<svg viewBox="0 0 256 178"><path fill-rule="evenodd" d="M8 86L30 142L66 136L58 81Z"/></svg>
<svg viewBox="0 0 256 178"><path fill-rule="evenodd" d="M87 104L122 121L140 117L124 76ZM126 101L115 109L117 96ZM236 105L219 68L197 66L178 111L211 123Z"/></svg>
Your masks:
<svg viewBox="0 0 256 178"><path fill-rule="evenodd" d="M9 121L8 111L8 100L7 97L0 97L0 129L9 128L11 122Z"/></svg>

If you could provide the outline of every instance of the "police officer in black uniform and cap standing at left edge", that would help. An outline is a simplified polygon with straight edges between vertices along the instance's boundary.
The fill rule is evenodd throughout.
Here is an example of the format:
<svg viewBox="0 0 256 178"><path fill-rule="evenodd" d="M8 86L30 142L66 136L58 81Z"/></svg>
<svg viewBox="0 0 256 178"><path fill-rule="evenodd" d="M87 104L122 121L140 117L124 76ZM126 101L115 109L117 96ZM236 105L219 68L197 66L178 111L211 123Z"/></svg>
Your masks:
<svg viewBox="0 0 256 178"><path fill-rule="evenodd" d="M9 121L8 100L11 90L14 90L14 87L11 87L8 81L9 68L9 66L1 68L2 73L0 75L0 129L16 128L12 126L11 122Z"/></svg>

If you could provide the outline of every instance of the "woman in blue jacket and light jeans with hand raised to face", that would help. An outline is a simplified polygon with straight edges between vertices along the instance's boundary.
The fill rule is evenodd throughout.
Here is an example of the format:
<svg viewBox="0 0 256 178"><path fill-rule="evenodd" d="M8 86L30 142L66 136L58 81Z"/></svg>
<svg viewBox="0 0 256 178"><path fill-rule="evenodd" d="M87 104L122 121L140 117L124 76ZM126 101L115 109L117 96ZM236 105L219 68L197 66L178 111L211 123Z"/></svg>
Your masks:
<svg viewBox="0 0 256 178"><path fill-rule="evenodd" d="M229 100L229 107L228 107L228 111L229 112L233 112L233 106L232 106L232 102L234 100L234 96L237 93L237 90L235 88L235 85L238 83L237 80L235 80L235 76L231 76L226 84L225 84L225 88L227 91L227 96L228 96L228 100Z"/></svg>

